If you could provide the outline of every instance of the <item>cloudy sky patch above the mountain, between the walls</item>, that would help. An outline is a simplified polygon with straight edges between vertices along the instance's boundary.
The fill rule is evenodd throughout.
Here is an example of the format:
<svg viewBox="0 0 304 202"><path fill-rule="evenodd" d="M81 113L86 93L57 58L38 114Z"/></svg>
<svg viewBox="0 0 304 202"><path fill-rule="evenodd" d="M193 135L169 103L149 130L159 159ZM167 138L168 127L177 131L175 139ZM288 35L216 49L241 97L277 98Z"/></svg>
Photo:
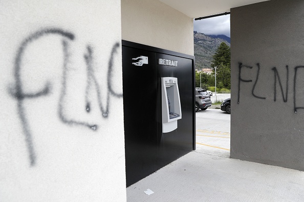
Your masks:
<svg viewBox="0 0 304 202"><path fill-rule="evenodd" d="M194 31L207 35L226 35L230 37L230 15L194 20Z"/></svg>

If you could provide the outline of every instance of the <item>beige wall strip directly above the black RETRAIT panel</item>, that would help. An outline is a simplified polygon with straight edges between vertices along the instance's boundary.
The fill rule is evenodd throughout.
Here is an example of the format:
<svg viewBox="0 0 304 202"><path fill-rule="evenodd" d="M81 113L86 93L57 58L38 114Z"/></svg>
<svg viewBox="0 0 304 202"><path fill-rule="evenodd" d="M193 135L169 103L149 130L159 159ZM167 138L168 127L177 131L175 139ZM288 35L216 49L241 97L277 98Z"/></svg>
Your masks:
<svg viewBox="0 0 304 202"><path fill-rule="evenodd" d="M193 19L158 0L121 0L122 39L194 55Z"/></svg>

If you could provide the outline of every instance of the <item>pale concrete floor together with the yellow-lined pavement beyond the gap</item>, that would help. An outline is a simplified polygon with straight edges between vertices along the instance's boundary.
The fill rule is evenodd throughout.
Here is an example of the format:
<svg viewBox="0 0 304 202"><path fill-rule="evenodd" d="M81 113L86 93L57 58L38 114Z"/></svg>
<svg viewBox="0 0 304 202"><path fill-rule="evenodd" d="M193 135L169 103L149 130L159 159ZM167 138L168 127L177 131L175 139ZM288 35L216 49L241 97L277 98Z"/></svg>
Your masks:
<svg viewBox="0 0 304 202"><path fill-rule="evenodd" d="M129 186L127 201L304 201L304 172L230 159L230 115L196 116L197 150Z"/></svg>

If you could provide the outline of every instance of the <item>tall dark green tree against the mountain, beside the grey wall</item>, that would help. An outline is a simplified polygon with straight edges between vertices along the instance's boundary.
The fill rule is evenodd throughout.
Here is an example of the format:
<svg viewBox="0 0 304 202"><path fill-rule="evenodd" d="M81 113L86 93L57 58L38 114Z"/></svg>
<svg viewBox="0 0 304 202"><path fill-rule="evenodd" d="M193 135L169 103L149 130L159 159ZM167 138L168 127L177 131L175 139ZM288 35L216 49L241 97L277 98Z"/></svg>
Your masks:
<svg viewBox="0 0 304 202"><path fill-rule="evenodd" d="M225 42L222 42L212 58L212 68L220 68L220 66L226 66L230 68L230 47Z"/></svg>

